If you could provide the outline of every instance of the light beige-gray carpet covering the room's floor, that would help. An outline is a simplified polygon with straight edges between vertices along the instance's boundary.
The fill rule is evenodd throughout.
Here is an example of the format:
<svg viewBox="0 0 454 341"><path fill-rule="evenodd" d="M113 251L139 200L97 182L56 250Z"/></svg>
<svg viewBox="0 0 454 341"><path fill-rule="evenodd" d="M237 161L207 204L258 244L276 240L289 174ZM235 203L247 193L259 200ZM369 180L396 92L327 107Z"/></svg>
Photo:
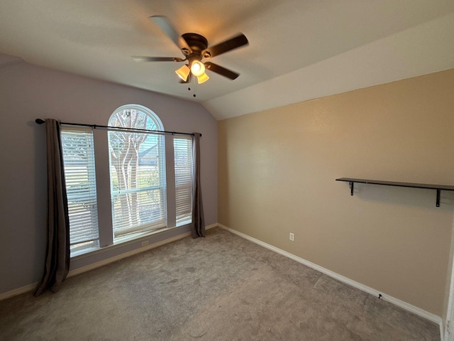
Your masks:
<svg viewBox="0 0 454 341"><path fill-rule="evenodd" d="M439 327L223 229L0 302L0 340L440 340Z"/></svg>

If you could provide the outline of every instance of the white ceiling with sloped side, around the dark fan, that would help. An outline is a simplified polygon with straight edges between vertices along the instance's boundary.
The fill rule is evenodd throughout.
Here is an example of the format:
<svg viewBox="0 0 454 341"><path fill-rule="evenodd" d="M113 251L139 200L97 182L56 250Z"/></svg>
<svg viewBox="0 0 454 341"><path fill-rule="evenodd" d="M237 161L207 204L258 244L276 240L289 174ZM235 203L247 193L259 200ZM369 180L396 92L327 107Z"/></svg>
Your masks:
<svg viewBox="0 0 454 341"><path fill-rule="evenodd" d="M247 47L212 59L240 77L209 72L188 91L181 63L135 63L182 57L153 15L209 45L244 33ZM0 1L0 53L201 102L216 119L446 70L453 42L453 0Z"/></svg>

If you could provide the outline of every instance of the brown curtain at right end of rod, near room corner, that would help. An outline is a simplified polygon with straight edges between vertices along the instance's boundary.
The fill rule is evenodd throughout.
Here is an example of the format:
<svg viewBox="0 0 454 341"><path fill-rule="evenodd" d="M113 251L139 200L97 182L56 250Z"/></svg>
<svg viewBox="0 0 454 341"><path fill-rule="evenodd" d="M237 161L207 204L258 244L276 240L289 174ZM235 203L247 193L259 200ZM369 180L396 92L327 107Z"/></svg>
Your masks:
<svg viewBox="0 0 454 341"><path fill-rule="evenodd" d="M192 238L205 237L204 205L201 200L200 184L200 136L194 133L192 160L194 162L194 176L192 177Z"/></svg>

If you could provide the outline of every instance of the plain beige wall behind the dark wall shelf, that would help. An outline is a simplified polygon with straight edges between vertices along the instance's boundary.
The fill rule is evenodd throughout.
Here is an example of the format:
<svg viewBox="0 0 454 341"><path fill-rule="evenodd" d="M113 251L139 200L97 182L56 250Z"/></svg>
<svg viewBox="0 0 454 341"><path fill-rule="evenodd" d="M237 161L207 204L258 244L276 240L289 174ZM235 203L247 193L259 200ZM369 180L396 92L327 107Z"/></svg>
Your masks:
<svg viewBox="0 0 454 341"><path fill-rule="evenodd" d="M453 131L454 69L219 121L218 222L441 316L454 193L335 179L454 185Z"/></svg>

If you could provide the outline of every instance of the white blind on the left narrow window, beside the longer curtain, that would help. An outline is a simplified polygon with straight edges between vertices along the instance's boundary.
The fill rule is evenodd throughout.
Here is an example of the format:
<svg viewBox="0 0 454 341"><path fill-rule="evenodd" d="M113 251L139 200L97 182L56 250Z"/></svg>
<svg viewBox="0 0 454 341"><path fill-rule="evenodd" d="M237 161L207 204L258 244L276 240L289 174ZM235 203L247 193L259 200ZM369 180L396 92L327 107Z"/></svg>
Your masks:
<svg viewBox="0 0 454 341"><path fill-rule="evenodd" d="M99 247L93 133L62 126L61 137L73 256Z"/></svg>

